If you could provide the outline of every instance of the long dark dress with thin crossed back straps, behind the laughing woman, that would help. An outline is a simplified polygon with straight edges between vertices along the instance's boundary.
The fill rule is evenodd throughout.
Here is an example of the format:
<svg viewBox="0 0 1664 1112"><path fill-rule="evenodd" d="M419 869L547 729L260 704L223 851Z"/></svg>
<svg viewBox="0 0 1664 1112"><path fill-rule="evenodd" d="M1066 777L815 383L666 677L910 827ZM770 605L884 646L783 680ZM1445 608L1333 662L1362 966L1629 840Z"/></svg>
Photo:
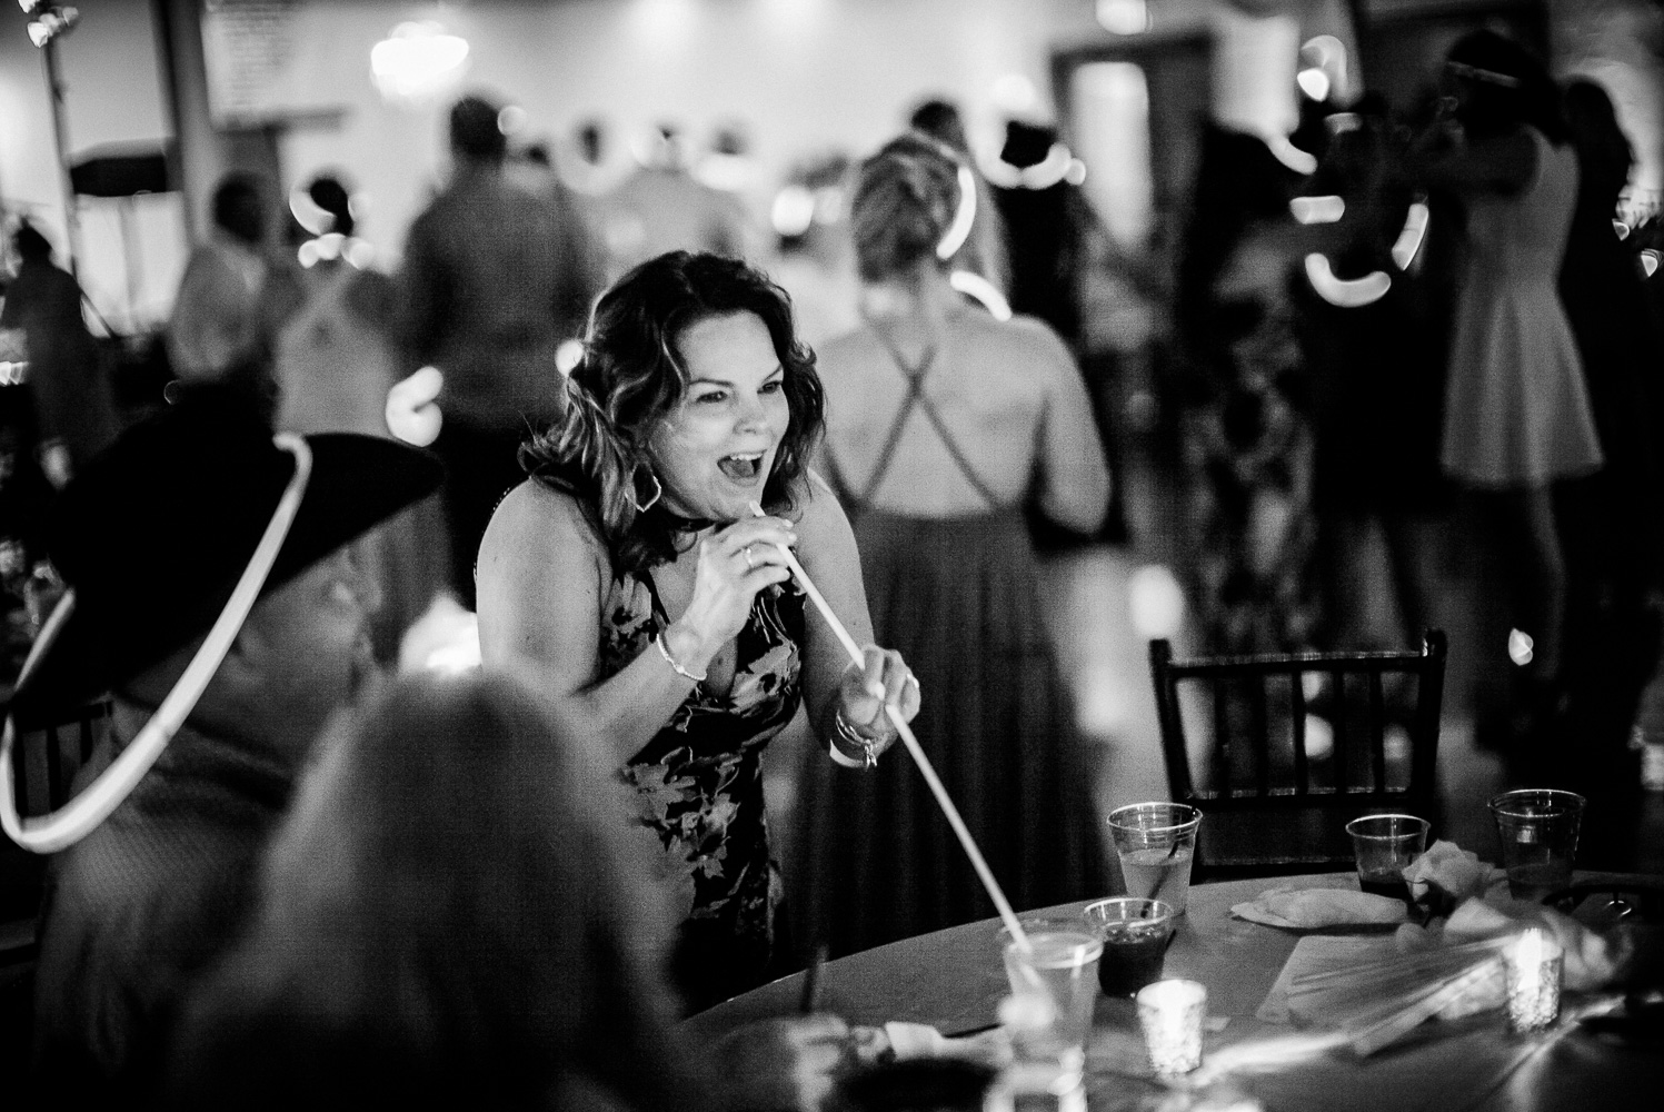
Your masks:
<svg viewBox="0 0 1664 1112"><path fill-rule="evenodd" d="M1107 894L1092 776L1042 623L1022 508L998 501L925 393L937 351L909 363L879 338L907 395L860 489L827 448L875 639L899 649L919 678L914 732L1012 902L1028 909ZM875 506L905 436L938 438L985 509L925 518ZM905 754L865 771L817 752L802 766L802 784L810 882L799 927L834 956L995 914Z"/></svg>

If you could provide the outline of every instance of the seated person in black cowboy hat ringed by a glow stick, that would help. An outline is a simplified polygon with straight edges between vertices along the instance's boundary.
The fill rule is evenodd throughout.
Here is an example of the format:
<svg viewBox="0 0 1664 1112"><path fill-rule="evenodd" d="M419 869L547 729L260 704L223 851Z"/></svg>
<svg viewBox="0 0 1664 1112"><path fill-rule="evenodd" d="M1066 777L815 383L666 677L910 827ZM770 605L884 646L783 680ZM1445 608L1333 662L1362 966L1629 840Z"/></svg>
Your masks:
<svg viewBox="0 0 1664 1112"><path fill-rule="evenodd" d="M70 594L8 707L0 819L37 852L65 851L35 992L35 1072L60 1095L153 1095L314 736L374 676L374 584L351 541L438 481L419 449L273 438L246 400L196 391L58 498L47 544ZM95 752L83 777L98 779L62 811L18 819L13 721L102 693L118 752Z"/></svg>

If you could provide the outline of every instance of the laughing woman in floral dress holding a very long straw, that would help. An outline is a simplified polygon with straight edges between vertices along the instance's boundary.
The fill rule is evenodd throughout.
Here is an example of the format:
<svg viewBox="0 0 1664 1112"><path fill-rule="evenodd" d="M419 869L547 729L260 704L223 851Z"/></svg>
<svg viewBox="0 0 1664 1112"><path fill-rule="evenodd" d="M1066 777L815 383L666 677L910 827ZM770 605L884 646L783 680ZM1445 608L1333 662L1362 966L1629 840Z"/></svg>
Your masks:
<svg viewBox="0 0 1664 1112"><path fill-rule="evenodd" d="M859 766L895 741L885 704L919 712L902 658L869 644L857 668L777 548L870 641L854 534L805 466L820 429L779 286L737 260L662 255L601 296L566 413L522 448L531 478L479 553L484 664L529 666L594 722L681 917L691 1010L790 962L767 742L805 701L830 757Z"/></svg>

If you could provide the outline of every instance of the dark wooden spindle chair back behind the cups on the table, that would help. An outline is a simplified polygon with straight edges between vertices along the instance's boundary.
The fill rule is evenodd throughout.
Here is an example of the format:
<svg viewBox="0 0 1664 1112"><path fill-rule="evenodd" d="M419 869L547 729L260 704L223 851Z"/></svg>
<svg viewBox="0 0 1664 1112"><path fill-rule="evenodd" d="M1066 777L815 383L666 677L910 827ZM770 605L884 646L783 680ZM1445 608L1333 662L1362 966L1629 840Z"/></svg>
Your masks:
<svg viewBox="0 0 1664 1112"><path fill-rule="evenodd" d="M1350 866L1345 824L1359 814L1404 811L1436 824L1444 658L1438 629L1408 653L1180 661L1151 641L1168 787L1205 816L1193 876ZM1315 719L1330 729L1326 744Z"/></svg>

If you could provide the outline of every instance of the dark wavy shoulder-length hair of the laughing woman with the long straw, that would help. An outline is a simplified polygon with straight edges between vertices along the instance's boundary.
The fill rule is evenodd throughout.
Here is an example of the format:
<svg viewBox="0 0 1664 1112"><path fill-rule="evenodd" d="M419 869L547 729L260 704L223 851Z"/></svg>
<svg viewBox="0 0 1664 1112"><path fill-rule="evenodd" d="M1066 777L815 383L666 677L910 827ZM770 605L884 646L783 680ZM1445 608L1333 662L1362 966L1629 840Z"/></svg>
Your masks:
<svg viewBox="0 0 1664 1112"><path fill-rule="evenodd" d="M671 251L619 278L589 316L584 358L566 380L564 413L521 448L527 474L584 506L619 571L676 559L687 533L704 524L656 498L647 444L687 391L687 366L677 350L682 333L732 313L762 320L785 373L790 424L762 499L770 513L790 509L825 424L820 376L814 351L797 338L787 293L737 258ZM652 478L641 478L644 466ZM639 511L639 504L647 509Z"/></svg>

